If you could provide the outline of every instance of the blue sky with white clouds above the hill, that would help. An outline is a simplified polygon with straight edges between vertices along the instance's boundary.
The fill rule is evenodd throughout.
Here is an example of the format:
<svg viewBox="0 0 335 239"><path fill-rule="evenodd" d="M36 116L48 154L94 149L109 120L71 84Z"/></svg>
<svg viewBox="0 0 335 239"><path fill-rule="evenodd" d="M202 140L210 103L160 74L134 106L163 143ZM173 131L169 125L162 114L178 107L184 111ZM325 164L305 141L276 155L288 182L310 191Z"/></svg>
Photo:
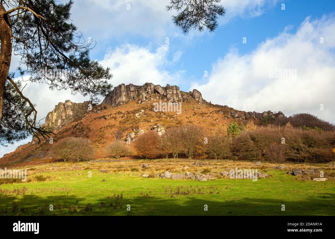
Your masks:
<svg viewBox="0 0 335 239"><path fill-rule="evenodd" d="M188 35L173 25L175 13L165 10L168 3L74 0L71 19L86 40L96 41L91 58L111 68L113 85L196 88L204 99L239 110L280 110L287 116L310 112L335 123L334 1L222 0L226 16L216 32ZM17 62L13 56L12 71ZM272 79L271 69L295 69L297 76ZM87 100L45 85L40 89L29 83L24 92L37 104L39 118L58 102ZM0 156L29 140L1 148Z"/></svg>

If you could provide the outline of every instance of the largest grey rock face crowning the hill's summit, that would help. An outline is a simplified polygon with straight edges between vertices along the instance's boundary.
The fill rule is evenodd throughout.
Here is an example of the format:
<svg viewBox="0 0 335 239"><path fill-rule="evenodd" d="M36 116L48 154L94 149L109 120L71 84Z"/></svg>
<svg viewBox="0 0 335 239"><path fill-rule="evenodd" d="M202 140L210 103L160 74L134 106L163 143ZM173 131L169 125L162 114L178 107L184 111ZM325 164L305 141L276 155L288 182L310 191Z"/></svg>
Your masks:
<svg viewBox="0 0 335 239"><path fill-rule="evenodd" d="M154 97L154 98L152 98ZM203 102L201 93L198 90L187 93L181 91L176 85L167 84L165 87L145 83L144 85L125 85L121 84L115 87L104 99L104 104L119 106L131 100L137 100L137 103L145 103L150 99L166 100L168 102L184 102L189 98L195 98L199 102Z"/></svg>

